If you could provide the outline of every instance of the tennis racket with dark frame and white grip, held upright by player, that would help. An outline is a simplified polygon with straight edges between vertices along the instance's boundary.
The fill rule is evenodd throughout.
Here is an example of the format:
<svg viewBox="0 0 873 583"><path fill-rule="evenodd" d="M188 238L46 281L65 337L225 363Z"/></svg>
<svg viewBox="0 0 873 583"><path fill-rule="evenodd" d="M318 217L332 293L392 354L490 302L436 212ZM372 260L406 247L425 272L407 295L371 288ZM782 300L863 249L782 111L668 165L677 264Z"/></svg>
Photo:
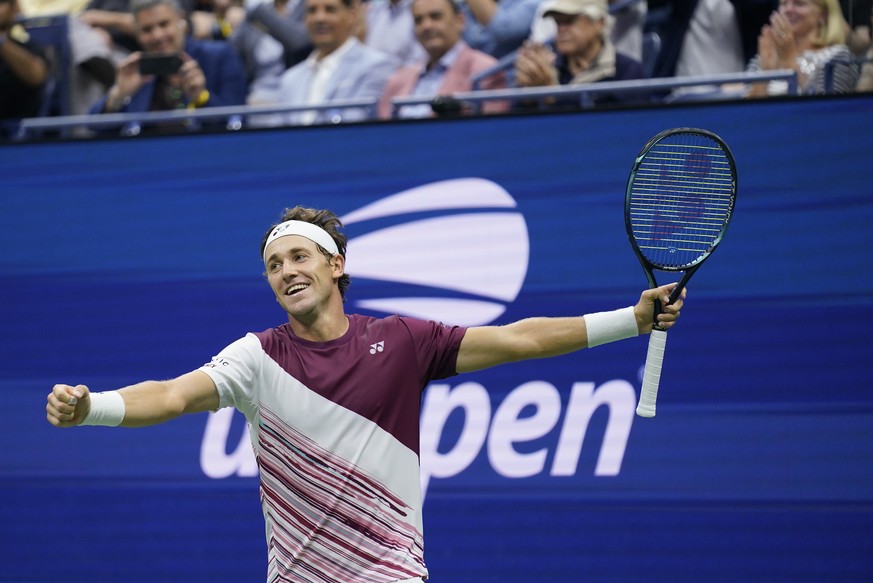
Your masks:
<svg viewBox="0 0 873 583"><path fill-rule="evenodd" d="M631 246L649 286L655 271L682 273L670 294L676 301L688 280L718 247L734 210L737 171L721 138L694 128L661 132L645 145L628 177L624 220ZM649 337L637 415L654 417L667 331L657 325Z"/></svg>

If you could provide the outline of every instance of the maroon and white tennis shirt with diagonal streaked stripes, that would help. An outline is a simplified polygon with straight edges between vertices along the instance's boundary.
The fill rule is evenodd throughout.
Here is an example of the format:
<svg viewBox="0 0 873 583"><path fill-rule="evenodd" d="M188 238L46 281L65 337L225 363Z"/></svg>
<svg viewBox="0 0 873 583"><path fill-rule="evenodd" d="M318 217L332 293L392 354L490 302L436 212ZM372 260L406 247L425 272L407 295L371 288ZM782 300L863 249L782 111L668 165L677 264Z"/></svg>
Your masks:
<svg viewBox="0 0 873 583"><path fill-rule="evenodd" d="M466 332L350 315L330 342L289 324L247 334L200 370L246 417L267 530L267 581L381 583L427 575L421 392L456 372Z"/></svg>

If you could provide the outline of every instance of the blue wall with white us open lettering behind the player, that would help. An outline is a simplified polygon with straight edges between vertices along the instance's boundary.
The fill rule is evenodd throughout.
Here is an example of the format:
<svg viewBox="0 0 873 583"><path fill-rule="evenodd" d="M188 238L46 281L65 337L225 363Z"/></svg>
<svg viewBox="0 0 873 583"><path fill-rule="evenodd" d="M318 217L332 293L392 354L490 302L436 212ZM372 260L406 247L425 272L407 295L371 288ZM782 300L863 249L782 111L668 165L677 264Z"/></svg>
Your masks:
<svg viewBox="0 0 873 583"><path fill-rule="evenodd" d="M670 333L425 392L435 583L873 581L873 98L0 148L0 581L262 581L244 420L59 430L54 383L170 378L284 321L287 206L351 237L347 309L463 324L632 304L627 174L712 130L738 206ZM669 278L664 278L669 281Z"/></svg>

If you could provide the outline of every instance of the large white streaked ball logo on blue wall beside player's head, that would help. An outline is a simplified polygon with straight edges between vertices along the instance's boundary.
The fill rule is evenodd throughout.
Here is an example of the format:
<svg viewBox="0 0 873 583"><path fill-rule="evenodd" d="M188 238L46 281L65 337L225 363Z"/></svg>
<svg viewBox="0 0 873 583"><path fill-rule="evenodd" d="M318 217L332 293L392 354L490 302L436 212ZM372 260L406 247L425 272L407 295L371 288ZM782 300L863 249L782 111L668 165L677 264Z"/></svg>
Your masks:
<svg viewBox="0 0 873 583"><path fill-rule="evenodd" d="M459 178L406 190L346 214L342 221L347 226L390 223L351 238L349 275L401 284L380 289L408 292L360 297L366 289L356 288L359 299L351 303L446 324L493 322L518 296L527 274L527 224L516 207L500 185ZM406 215L409 220L402 222Z"/></svg>

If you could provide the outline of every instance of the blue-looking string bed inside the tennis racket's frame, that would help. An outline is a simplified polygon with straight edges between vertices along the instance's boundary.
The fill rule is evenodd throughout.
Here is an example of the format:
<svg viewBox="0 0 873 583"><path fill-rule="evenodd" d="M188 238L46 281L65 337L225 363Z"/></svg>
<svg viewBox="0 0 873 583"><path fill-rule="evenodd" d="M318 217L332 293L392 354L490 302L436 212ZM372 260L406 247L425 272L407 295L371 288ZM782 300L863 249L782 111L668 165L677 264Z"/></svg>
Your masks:
<svg viewBox="0 0 873 583"><path fill-rule="evenodd" d="M629 217L641 253L675 269L699 261L720 240L733 209L735 178L718 144L700 136L672 138L643 156Z"/></svg>

